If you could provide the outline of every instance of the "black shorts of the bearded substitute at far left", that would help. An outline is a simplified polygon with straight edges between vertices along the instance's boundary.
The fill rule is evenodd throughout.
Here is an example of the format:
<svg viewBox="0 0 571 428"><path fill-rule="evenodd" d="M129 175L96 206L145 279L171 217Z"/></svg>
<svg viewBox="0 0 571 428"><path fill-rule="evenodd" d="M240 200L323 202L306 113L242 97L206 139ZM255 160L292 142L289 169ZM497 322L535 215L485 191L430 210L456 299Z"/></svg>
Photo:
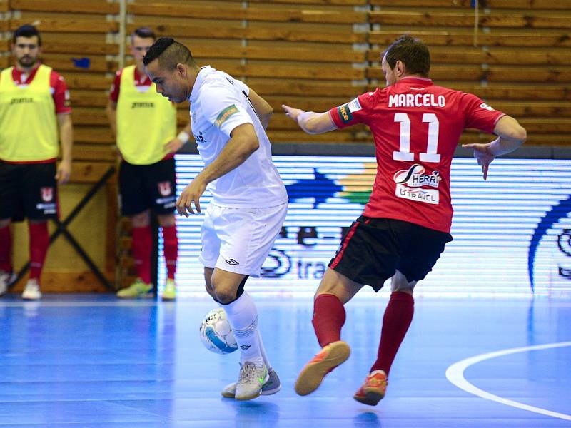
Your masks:
<svg viewBox="0 0 571 428"><path fill-rule="evenodd" d="M58 215L56 163L0 161L0 219L46 220Z"/></svg>

